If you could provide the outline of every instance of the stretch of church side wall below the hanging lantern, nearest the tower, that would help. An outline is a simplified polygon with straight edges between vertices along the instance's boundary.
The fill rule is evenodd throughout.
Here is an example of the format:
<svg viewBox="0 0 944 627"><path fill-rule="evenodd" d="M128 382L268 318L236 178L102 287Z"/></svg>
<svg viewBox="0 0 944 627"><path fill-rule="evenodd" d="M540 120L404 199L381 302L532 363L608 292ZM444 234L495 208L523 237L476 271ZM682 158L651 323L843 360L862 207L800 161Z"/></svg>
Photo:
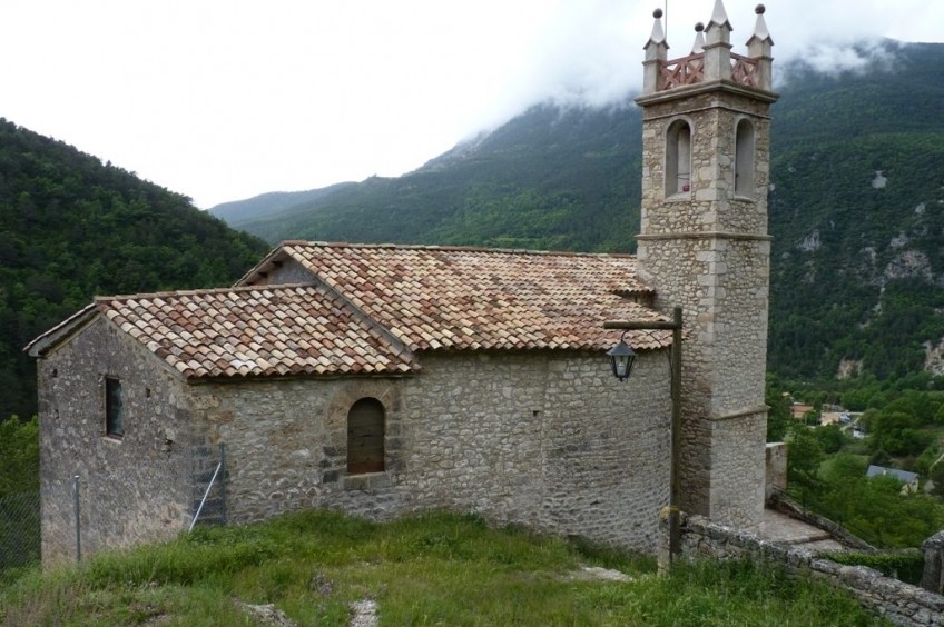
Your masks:
<svg viewBox="0 0 944 627"><path fill-rule="evenodd" d="M670 485L667 355L641 355L625 382L597 356L550 368L541 526L652 553Z"/></svg>

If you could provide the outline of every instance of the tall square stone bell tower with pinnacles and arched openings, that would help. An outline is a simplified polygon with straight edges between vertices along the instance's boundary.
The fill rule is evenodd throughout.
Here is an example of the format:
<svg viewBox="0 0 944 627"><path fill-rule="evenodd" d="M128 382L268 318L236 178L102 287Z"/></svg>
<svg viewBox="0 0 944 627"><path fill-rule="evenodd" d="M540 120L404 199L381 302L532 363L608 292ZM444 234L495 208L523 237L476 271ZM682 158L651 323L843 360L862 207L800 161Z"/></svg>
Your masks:
<svg viewBox="0 0 944 627"><path fill-rule="evenodd" d="M680 507L751 528L764 510L767 235L773 41L756 9L731 52L721 0L668 59L662 12L647 42L638 273L684 310Z"/></svg>

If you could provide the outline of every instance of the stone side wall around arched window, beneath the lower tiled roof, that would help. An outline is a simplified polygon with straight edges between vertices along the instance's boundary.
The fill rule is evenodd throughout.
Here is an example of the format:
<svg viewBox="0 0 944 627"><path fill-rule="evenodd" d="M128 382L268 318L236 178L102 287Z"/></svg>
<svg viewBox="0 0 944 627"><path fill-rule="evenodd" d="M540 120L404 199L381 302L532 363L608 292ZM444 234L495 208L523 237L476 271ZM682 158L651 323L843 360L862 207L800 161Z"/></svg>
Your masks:
<svg viewBox="0 0 944 627"><path fill-rule="evenodd" d="M227 516L264 520L309 507L384 518L409 500L400 490L401 379L286 378L189 386L206 444L226 445ZM361 398L385 409L386 471L347 489L347 410Z"/></svg>

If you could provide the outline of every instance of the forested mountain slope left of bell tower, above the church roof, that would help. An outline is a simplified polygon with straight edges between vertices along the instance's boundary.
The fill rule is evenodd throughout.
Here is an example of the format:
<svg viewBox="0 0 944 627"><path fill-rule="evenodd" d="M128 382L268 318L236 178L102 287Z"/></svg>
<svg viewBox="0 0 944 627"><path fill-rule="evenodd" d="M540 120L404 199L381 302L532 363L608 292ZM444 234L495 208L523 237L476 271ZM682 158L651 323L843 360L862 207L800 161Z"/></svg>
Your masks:
<svg viewBox="0 0 944 627"><path fill-rule="evenodd" d="M640 132L635 108L535 107L415 172L372 177L238 226L269 241L629 250L623 233L638 230L639 213L626 211L626 198L639 197Z"/></svg>

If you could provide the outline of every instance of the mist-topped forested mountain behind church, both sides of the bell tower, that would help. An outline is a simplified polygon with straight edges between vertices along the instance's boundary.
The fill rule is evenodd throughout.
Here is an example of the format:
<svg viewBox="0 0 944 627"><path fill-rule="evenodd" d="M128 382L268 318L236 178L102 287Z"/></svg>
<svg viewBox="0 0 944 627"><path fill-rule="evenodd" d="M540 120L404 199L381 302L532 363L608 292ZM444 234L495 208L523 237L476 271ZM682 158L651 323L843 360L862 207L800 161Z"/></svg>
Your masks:
<svg viewBox="0 0 944 627"><path fill-rule="evenodd" d="M921 370L944 338L944 46L887 42L858 72L784 74L769 366L791 378ZM233 223L272 242L632 251L640 133L631 103L535 107L410 175Z"/></svg>

